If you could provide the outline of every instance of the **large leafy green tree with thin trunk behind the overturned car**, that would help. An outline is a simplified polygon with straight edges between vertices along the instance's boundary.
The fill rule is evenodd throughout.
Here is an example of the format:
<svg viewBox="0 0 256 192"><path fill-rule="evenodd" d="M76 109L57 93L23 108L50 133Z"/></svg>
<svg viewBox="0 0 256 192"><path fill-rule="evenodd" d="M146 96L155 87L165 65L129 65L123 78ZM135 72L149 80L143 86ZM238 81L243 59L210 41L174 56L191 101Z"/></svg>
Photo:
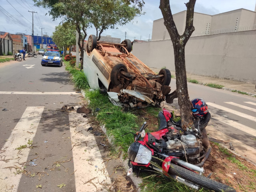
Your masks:
<svg viewBox="0 0 256 192"><path fill-rule="evenodd" d="M100 35L104 30L114 28L116 24L124 25L141 14L144 4L143 0L34 0L34 2L35 6L49 9L48 14L53 20L62 17L76 27L82 58L87 28L94 25ZM83 60L81 69L83 69Z"/></svg>

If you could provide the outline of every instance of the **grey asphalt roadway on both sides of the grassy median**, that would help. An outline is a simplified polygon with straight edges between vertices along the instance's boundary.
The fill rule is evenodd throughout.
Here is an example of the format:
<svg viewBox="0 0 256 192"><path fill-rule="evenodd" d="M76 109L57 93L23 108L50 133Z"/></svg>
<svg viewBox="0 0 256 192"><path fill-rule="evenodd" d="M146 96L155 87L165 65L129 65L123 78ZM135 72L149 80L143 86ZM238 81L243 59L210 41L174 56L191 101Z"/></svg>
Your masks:
<svg viewBox="0 0 256 192"><path fill-rule="evenodd" d="M63 105L81 104L82 95L75 93L64 66L42 67L41 58L0 66L0 191L35 191L37 185L44 191L93 191L92 184L83 182L94 178L95 172L107 175L95 160L100 156L97 145L83 132L87 126L83 118L59 110ZM175 89L175 79L170 86ZM248 158L256 159L256 141L251 139L256 138L256 98L191 83L188 89L191 99L203 98L209 106L209 136L230 139L242 156L251 154ZM171 105L179 108L178 100ZM17 150L28 145L28 139L35 147ZM24 163L30 177L15 168ZM107 177L97 177L98 183L109 182ZM66 186L58 189L60 184Z"/></svg>

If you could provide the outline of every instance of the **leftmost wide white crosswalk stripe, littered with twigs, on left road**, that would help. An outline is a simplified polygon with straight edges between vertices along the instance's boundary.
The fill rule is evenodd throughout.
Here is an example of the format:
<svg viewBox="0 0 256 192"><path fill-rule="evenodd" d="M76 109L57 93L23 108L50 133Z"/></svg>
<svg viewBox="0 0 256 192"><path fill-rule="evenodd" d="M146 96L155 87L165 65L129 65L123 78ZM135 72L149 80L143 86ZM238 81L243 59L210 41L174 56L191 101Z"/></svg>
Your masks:
<svg viewBox="0 0 256 192"><path fill-rule="evenodd" d="M21 165L18 163L27 161L30 149L22 149L21 153L19 154L19 150L15 149L21 145L27 145L28 139L33 140L43 113L43 109L44 107L41 106L27 107L20 121L14 127L11 135L1 149L1 152L3 152L1 153L2 158L5 157L5 159L9 159L9 162L0 161L0 191L12 189L11 191L15 192L18 190L22 174L14 175L13 172L16 172L14 168L11 168L10 170L9 168L5 167L13 167L15 165L21 167ZM34 132L34 134L30 134L29 132Z"/></svg>

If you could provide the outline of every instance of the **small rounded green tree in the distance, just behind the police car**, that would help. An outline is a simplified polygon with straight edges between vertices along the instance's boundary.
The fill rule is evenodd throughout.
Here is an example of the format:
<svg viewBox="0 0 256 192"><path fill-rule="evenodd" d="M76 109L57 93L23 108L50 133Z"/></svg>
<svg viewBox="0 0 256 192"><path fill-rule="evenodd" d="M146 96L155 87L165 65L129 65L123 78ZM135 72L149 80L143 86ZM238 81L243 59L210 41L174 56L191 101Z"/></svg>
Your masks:
<svg viewBox="0 0 256 192"><path fill-rule="evenodd" d="M63 51L66 53L67 47L75 44L75 27L69 23L58 25L55 27L52 38L59 47L64 47Z"/></svg>

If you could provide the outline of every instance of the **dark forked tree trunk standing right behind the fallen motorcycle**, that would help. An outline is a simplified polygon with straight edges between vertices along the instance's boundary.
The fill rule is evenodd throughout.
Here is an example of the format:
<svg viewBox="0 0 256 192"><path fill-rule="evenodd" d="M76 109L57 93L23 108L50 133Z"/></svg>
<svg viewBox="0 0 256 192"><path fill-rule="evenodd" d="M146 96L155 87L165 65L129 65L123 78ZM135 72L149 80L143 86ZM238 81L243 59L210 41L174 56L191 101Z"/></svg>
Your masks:
<svg viewBox="0 0 256 192"><path fill-rule="evenodd" d="M189 0L189 2L185 4L187 6L187 17L185 31L182 35L178 33L173 21L169 0L160 0L159 6L163 14L164 25L171 37L173 45L177 95L181 110L181 123L184 130L186 130L187 127L193 126L191 102L189 100L187 86L185 45L195 30L193 26L195 2L196 0Z"/></svg>

